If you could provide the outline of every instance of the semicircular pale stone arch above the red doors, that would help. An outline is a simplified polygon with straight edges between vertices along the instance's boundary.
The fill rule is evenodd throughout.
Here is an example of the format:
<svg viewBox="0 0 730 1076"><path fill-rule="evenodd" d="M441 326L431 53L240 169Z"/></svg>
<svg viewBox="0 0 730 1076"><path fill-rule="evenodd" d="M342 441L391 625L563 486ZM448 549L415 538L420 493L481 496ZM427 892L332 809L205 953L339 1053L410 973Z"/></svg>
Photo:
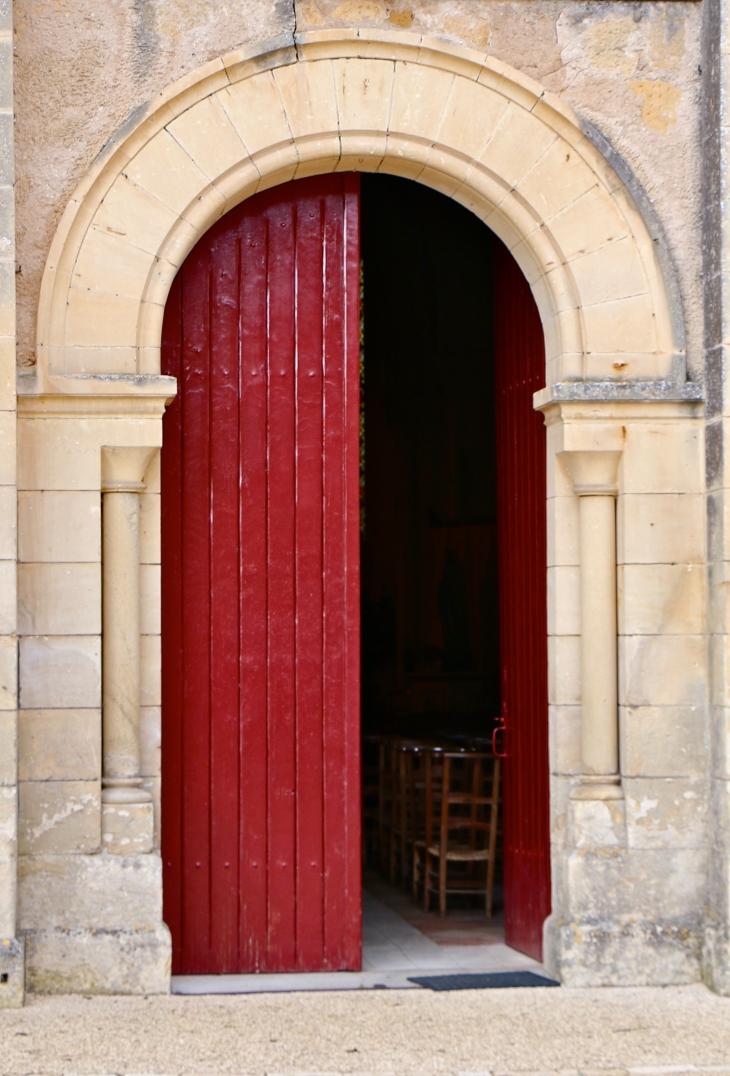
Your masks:
<svg viewBox="0 0 730 1076"><path fill-rule="evenodd" d="M337 30L208 63L106 147L46 263L39 388L158 373L167 294L198 238L256 190L347 169L426 183L496 232L533 289L548 384L672 376L656 244L575 114L477 52Z"/></svg>

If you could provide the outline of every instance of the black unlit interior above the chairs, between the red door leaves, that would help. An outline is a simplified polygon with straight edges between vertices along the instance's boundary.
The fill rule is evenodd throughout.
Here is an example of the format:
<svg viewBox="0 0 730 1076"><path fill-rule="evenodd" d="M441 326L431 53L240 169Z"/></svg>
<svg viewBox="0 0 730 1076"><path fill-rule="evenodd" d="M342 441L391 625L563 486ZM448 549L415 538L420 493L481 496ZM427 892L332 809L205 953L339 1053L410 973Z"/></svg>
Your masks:
<svg viewBox="0 0 730 1076"><path fill-rule="evenodd" d="M489 737L500 711L494 238L362 178L363 732Z"/></svg>

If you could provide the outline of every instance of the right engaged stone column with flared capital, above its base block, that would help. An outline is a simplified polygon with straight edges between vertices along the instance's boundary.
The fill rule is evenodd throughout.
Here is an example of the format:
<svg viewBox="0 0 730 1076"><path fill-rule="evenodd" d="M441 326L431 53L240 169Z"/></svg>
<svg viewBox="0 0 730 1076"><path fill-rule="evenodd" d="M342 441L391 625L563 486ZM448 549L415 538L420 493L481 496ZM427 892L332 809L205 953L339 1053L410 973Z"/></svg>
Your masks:
<svg viewBox="0 0 730 1076"><path fill-rule="evenodd" d="M616 495L620 452L561 452L580 497L582 775L575 799L621 799L618 767Z"/></svg>

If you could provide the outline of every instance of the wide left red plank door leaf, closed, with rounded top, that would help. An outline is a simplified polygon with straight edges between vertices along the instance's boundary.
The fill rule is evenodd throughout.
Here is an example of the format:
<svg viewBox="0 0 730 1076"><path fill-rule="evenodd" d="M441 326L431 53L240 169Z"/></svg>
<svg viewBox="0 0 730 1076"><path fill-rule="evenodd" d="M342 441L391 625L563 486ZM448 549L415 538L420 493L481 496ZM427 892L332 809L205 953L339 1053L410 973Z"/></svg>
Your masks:
<svg viewBox="0 0 730 1076"><path fill-rule="evenodd" d="M359 968L360 184L223 217L163 370L163 859L177 974Z"/></svg>

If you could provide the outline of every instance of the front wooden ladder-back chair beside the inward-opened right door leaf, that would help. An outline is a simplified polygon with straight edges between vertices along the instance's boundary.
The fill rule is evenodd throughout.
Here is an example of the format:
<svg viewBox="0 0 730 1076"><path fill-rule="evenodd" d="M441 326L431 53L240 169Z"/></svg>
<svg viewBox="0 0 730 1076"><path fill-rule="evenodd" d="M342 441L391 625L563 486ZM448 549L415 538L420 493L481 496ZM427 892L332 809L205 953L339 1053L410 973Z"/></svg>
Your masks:
<svg viewBox="0 0 730 1076"><path fill-rule="evenodd" d="M434 774L434 759L443 760L440 779ZM425 833L413 841L413 891L422 883L426 911L431 894L437 893L441 916L449 893L483 893L491 918L500 760L486 751L434 751L425 770ZM482 863L483 879L475 876L476 865Z"/></svg>

